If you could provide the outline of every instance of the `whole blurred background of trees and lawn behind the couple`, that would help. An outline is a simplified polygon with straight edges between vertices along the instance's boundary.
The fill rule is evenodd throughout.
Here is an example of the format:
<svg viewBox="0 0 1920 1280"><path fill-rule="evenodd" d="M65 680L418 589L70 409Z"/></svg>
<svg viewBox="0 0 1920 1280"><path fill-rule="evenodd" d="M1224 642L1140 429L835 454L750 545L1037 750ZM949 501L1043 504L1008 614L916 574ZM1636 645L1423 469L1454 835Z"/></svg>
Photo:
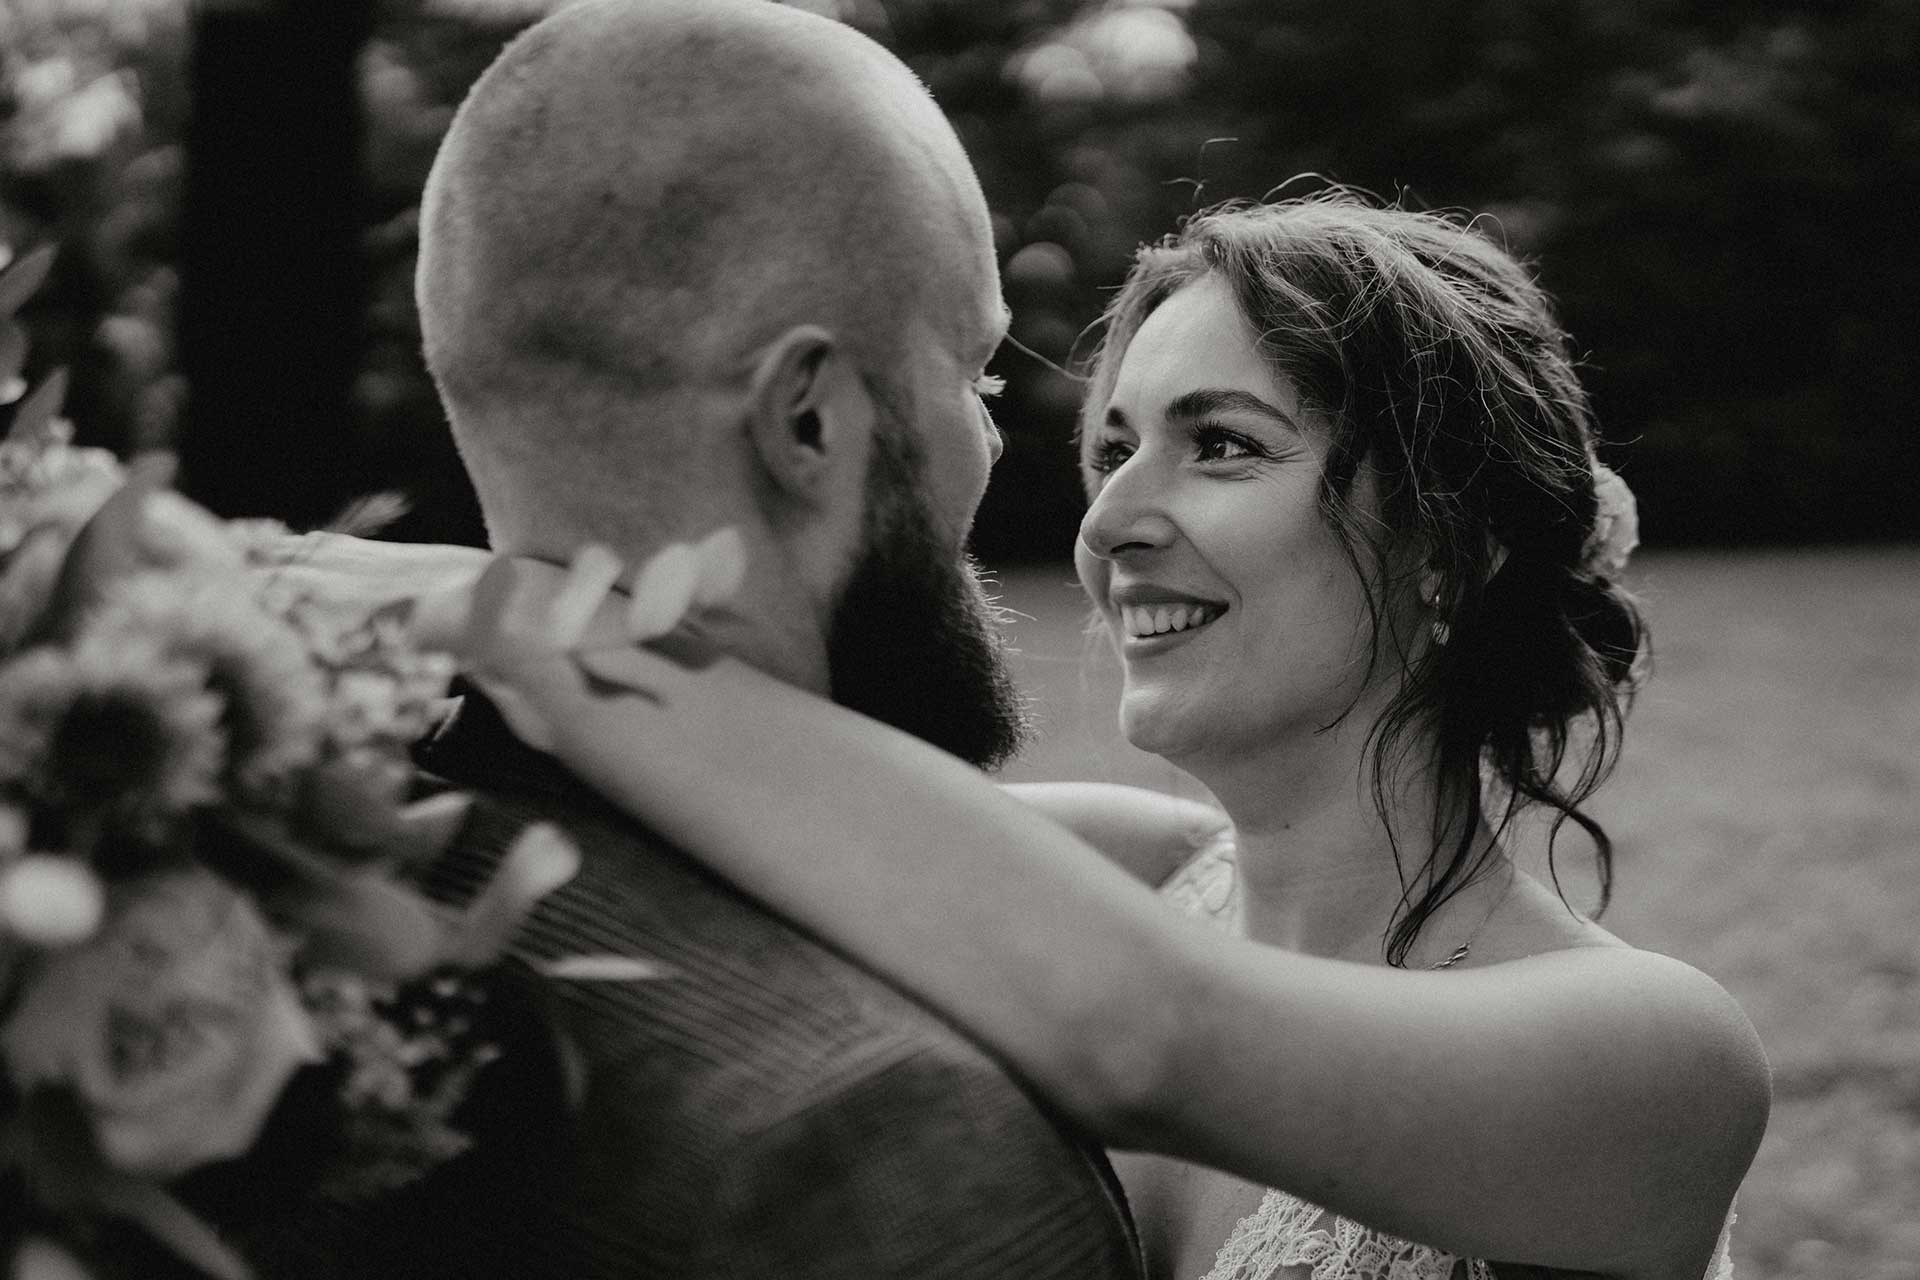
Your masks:
<svg viewBox="0 0 1920 1280"><path fill-rule="evenodd" d="M83 441L175 443L227 514L401 491L392 535L480 541L419 359L417 201L545 8L0 0L0 253L61 246L29 378L69 367ZM1774 1055L1741 1274L1920 1280L1920 4L804 8L920 71L995 209L1033 355L996 361L975 549L1046 725L1018 775L1192 791L1117 741L1064 568L1073 357L1139 244L1338 180L1538 265L1647 539L1607 919L1724 981Z"/></svg>

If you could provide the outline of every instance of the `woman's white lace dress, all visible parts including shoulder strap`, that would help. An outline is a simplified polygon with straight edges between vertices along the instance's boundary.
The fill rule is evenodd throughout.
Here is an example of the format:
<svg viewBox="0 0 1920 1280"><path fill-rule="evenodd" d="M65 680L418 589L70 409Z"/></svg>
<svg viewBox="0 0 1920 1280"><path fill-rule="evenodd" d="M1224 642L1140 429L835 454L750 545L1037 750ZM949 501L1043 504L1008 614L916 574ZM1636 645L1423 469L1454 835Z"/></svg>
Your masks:
<svg viewBox="0 0 1920 1280"><path fill-rule="evenodd" d="M1200 850L1162 892L1190 915L1244 929L1231 837ZM1461 958L1463 952L1455 952L1436 967ZM1732 1230L1734 1215L1728 1213L1705 1280L1734 1280ZM1500 1280L1480 1259L1377 1232L1281 1190L1267 1190L1260 1207L1240 1219L1202 1280L1275 1280L1290 1267L1309 1268L1294 1272L1302 1280Z"/></svg>

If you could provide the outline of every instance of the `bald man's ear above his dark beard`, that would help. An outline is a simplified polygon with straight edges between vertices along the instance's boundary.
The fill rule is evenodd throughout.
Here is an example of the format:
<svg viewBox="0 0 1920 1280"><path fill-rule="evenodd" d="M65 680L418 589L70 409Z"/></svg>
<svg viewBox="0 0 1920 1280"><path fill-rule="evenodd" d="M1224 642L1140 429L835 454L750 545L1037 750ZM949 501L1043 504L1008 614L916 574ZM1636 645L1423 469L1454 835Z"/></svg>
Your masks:
<svg viewBox="0 0 1920 1280"><path fill-rule="evenodd" d="M747 432L774 486L814 503L829 480L866 457L874 397L847 347L818 324L799 324L760 353L747 391Z"/></svg>

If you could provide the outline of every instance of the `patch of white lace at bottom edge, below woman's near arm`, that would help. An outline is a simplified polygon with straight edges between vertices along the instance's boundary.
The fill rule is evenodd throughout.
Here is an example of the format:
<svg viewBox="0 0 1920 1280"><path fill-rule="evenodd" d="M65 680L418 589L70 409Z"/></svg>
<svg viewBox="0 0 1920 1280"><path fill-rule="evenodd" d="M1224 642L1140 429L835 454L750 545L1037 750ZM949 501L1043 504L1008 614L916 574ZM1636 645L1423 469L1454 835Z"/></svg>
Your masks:
<svg viewBox="0 0 1920 1280"><path fill-rule="evenodd" d="M1329 1230L1329 1224L1332 1230ZM1494 1280L1478 1259L1459 1259L1327 1213L1286 1192L1267 1192L1213 1257L1206 1280L1269 1280L1281 1267L1311 1267L1313 1280Z"/></svg>

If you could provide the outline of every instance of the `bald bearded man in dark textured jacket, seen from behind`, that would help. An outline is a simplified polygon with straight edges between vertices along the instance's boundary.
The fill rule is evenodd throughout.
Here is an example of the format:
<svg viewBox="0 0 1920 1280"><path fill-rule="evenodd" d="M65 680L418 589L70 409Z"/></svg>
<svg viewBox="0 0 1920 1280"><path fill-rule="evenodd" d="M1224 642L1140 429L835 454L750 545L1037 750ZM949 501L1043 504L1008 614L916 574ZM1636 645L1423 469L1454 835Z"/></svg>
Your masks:
<svg viewBox="0 0 1920 1280"><path fill-rule="evenodd" d="M632 564L737 526L751 568L722 649L979 764L1016 747L962 551L1000 449L975 395L1006 326L993 238L893 56L764 0L564 8L455 117L417 284L493 551L564 562L597 541ZM346 555L378 572L378 549ZM403 576L432 562L396 555ZM486 1209L520 1251L503 1270L1140 1274L1102 1155L935 1015L612 814L478 699L428 766L488 800L438 892L557 821L586 865L520 956L670 973L555 984L582 1105Z"/></svg>

